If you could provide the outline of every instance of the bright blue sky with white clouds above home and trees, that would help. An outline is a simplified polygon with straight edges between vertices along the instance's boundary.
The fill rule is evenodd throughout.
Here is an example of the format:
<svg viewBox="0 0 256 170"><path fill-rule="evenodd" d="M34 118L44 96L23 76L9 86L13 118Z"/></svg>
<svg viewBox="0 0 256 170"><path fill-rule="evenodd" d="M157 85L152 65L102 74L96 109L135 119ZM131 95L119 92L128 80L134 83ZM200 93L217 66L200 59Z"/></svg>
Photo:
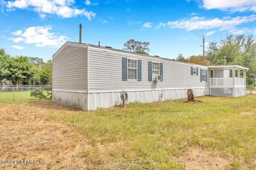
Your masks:
<svg viewBox="0 0 256 170"><path fill-rule="evenodd" d="M66 41L122 49L134 38L150 55L202 54L207 42L229 33L256 36L255 0L0 0L0 47L10 55L49 60Z"/></svg>

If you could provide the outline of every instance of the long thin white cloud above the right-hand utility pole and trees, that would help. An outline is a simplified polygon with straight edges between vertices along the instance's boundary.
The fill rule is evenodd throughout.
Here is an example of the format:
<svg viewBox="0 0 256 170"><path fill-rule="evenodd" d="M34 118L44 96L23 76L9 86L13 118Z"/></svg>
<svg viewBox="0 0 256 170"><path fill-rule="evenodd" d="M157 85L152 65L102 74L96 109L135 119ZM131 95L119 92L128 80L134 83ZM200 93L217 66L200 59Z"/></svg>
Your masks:
<svg viewBox="0 0 256 170"><path fill-rule="evenodd" d="M207 19L205 17L192 17L190 19L182 19L178 21L168 21L167 25L171 28L179 28L179 29L186 29L190 30L200 30L200 29L212 29L212 28L219 28L220 31L233 29L235 26L243 24L243 23L250 23L256 21L256 15L250 16L236 16L234 18L210 18Z"/></svg>

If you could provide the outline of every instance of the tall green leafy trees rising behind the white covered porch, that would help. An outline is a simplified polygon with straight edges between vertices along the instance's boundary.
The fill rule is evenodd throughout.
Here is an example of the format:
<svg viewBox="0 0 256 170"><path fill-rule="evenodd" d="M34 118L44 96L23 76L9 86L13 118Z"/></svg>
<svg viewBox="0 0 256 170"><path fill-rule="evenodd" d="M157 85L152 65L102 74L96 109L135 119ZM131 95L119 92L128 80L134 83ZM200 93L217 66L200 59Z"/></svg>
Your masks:
<svg viewBox="0 0 256 170"><path fill-rule="evenodd" d="M253 36L228 35L220 43L209 43L209 56L207 60L214 65L242 65L250 70L246 74L247 83L255 83L256 77L256 41Z"/></svg>

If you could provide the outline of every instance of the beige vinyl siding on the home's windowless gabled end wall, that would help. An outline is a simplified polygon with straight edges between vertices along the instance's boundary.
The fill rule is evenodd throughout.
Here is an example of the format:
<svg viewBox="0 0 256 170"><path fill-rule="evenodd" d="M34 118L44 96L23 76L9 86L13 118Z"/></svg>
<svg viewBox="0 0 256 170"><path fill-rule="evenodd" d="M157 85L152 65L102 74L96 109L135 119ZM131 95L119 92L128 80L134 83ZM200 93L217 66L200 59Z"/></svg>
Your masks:
<svg viewBox="0 0 256 170"><path fill-rule="evenodd" d="M53 90L87 90L87 48L66 45L53 56Z"/></svg>

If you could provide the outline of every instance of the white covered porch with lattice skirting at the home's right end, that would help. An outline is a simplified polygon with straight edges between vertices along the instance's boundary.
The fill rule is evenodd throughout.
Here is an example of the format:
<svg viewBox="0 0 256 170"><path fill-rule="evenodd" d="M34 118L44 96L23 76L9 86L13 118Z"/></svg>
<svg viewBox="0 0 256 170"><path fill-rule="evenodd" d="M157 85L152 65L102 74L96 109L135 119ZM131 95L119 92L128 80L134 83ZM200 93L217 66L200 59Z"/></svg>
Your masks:
<svg viewBox="0 0 256 170"><path fill-rule="evenodd" d="M239 65L209 66L210 95L238 97L246 95L246 72Z"/></svg>

